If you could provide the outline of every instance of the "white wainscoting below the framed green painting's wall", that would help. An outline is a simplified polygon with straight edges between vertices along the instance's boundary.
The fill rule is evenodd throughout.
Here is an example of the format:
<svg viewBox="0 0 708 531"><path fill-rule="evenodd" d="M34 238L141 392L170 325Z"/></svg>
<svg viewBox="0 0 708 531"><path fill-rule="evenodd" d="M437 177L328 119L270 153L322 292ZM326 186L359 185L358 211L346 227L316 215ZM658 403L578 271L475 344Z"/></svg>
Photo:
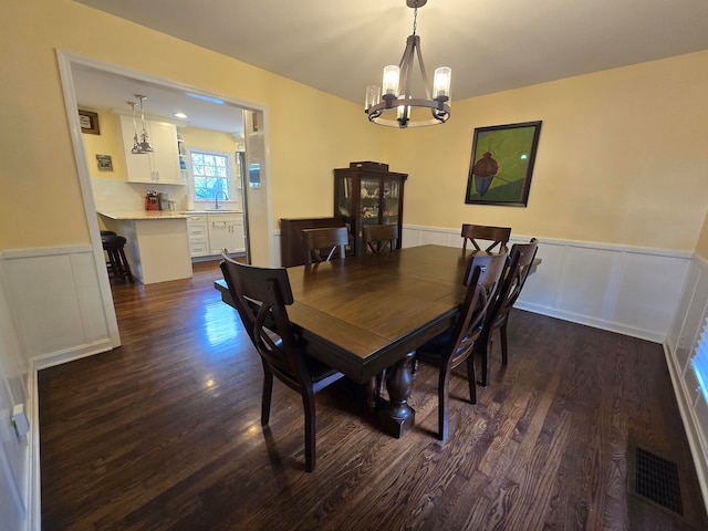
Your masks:
<svg viewBox="0 0 708 531"><path fill-rule="evenodd" d="M533 235L532 235L533 236ZM537 236L542 260L517 306L565 321L663 343L691 253ZM510 243L531 236L513 235ZM406 226L404 247L462 247L459 229Z"/></svg>

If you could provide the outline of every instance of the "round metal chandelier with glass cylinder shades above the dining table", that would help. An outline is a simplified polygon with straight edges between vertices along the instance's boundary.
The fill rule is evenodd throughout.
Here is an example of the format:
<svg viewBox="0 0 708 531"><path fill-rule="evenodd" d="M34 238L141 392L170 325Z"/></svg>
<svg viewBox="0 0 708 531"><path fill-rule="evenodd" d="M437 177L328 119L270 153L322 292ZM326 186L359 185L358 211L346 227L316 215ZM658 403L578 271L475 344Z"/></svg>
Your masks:
<svg viewBox="0 0 708 531"><path fill-rule="evenodd" d="M392 64L384 67L383 94L379 86L369 85L366 87L364 112L368 115L369 122L387 127L406 128L444 124L450 117L450 76L452 70L448 66L437 69L433 79L433 91L430 91L423 64L420 38L416 35L418 8L425 6L426 2L427 0L406 0L406 6L414 9L413 34L408 35L406 40L406 49L400 58L400 63L397 66ZM420 76L425 86L425 100L412 96L414 55L418 59ZM416 107L419 108L416 111ZM416 111L415 117L414 111ZM392 119L394 115L395 119Z"/></svg>

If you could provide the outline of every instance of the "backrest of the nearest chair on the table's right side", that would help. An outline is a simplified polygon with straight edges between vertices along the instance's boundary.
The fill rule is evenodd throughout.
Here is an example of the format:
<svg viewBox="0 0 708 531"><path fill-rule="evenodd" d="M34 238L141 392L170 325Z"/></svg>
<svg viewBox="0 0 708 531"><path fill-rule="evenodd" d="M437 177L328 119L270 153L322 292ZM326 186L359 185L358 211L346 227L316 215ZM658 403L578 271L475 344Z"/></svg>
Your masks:
<svg viewBox="0 0 708 531"><path fill-rule="evenodd" d="M507 262L507 254L477 254L470 258L465 278L467 293L460 305L460 313L455 325L450 351L450 364L456 358L467 357L475 342L482 333L487 313L490 311L497 293L497 285Z"/></svg>

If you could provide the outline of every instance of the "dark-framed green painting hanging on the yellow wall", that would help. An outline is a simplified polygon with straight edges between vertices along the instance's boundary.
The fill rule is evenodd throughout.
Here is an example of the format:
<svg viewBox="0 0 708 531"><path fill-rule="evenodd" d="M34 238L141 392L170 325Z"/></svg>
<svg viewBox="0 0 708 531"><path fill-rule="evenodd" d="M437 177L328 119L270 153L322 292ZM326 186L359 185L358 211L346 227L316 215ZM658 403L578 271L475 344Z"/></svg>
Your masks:
<svg viewBox="0 0 708 531"><path fill-rule="evenodd" d="M541 122L476 127L465 202L525 207Z"/></svg>

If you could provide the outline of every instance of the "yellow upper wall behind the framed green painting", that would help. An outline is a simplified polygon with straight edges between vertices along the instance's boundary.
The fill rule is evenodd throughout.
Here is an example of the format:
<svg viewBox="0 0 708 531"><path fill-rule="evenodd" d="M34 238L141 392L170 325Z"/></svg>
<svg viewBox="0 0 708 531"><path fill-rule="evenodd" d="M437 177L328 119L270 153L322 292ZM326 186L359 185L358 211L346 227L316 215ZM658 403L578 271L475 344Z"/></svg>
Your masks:
<svg viewBox="0 0 708 531"><path fill-rule="evenodd" d="M708 52L452 103L400 132L405 222L693 251L708 208ZM528 208L466 205L475 127L543 121ZM404 139L404 135L406 138Z"/></svg>

